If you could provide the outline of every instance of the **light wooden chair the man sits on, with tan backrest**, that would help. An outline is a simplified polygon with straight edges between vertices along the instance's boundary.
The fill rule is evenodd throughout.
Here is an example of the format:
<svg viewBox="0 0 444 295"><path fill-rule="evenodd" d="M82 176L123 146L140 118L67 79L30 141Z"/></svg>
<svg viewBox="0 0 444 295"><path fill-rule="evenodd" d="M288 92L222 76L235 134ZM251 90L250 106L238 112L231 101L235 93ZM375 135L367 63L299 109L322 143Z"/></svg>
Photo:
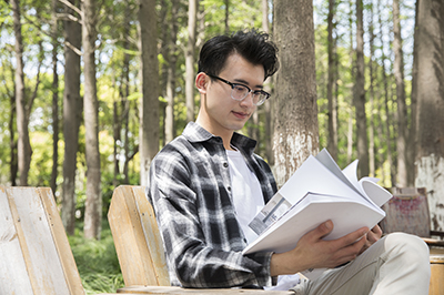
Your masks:
<svg viewBox="0 0 444 295"><path fill-rule="evenodd" d="M115 252L130 294L264 294L293 292L258 289L194 289L170 286L162 238L154 211L143 186L121 185L114 190L108 212Z"/></svg>

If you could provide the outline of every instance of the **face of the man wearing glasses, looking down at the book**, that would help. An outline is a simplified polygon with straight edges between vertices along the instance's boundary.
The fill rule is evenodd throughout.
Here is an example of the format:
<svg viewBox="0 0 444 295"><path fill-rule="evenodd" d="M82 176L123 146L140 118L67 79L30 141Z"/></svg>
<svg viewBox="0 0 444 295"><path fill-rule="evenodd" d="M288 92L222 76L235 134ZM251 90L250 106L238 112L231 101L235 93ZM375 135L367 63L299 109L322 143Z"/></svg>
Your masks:
<svg viewBox="0 0 444 295"><path fill-rule="evenodd" d="M254 65L234 53L228 58L225 67L218 77L232 83L244 84L252 90L261 90L264 69L261 64ZM242 129L256 109L252 101L252 93L242 101L235 101L231 98L232 88L229 84L216 79L211 81L208 75L205 80L204 91L200 89L200 92L205 93L200 111L200 116L202 116L200 119L204 122L203 128L215 135Z"/></svg>

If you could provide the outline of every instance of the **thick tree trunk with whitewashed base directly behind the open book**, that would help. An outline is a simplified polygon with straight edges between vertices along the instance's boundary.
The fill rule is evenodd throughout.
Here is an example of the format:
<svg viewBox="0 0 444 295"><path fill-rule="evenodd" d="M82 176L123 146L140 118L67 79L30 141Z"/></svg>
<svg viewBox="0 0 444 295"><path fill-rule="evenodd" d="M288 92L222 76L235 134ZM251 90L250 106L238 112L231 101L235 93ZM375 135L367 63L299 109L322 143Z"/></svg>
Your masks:
<svg viewBox="0 0 444 295"><path fill-rule="evenodd" d="M281 70L276 77L274 156L281 186L319 151L313 2L276 0L274 37Z"/></svg>

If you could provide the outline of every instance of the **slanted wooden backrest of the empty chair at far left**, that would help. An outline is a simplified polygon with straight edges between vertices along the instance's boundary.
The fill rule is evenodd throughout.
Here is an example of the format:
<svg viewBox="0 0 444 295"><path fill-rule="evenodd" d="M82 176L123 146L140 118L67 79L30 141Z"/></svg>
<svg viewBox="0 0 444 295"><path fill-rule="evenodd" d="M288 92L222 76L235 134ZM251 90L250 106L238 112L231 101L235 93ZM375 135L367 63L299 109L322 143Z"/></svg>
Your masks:
<svg viewBox="0 0 444 295"><path fill-rule="evenodd" d="M0 186L0 294L84 294L49 187Z"/></svg>

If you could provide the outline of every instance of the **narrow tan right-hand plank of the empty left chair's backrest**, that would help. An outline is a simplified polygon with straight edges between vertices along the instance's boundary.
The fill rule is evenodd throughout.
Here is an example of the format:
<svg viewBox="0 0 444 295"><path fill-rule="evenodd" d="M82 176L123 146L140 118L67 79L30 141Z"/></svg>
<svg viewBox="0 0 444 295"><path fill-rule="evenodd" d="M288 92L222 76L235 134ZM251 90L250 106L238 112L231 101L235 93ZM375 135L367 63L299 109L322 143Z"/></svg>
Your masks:
<svg viewBox="0 0 444 295"><path fill-rule="evenodd" d="M50 187L39 187L38 192L47 214L47 220L50 225L49 228L54 241L57 253L59 254L70 294L83 295L84 289L82 286L82 281L80 278L79 269L77 268L75 260L72 255L71 246L68 242L67 233L57 208L52 191Z"/></svg>

